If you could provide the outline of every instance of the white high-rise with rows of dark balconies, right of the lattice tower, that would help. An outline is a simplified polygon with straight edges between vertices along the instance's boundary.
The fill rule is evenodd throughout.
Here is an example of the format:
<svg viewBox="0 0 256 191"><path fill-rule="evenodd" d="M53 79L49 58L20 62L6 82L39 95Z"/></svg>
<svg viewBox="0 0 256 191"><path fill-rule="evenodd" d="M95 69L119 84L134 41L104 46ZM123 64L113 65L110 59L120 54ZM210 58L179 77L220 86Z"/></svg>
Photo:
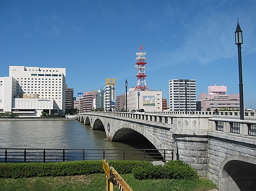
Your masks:
<svg viewBox="0 0 256 191"><path fill-rule="evenodd" d="M170 111L196 111L196 80L169 80Z"/></svg>

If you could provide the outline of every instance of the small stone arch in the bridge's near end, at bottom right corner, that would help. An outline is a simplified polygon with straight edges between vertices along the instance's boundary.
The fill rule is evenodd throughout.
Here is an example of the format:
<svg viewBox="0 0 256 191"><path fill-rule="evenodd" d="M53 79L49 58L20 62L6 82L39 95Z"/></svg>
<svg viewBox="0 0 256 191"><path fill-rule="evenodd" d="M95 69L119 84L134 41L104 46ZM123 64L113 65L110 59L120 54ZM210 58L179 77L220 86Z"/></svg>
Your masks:
<svg viewBox="0 0 256 191"><path fill-rule="evenodd" d="M222 163L219 171L220 191L256 190L256 159L230 156Z"/></svg>

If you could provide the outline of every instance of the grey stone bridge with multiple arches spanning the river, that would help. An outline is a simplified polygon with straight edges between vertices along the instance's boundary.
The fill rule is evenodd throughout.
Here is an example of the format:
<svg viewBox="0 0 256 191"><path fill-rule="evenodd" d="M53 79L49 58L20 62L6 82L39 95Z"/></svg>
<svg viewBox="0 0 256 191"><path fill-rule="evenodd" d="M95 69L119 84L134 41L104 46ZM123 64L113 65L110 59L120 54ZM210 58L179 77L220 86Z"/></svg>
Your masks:
<svg viewBox="0 0 256 191"><path fill-rule="evenodd" d="M141 135L157 149L175 151L174 159L192 165L219 190L256 190L256 117L240 120L234 112L89 112L76 118L102 129L110 141Z"/></svg>

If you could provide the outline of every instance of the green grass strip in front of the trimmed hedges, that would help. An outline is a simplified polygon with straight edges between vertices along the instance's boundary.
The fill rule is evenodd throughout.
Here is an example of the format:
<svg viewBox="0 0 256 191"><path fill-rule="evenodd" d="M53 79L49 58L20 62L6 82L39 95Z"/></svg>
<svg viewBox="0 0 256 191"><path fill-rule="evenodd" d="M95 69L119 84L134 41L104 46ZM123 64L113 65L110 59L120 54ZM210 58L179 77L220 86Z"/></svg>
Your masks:
<svg viewBox="0 0 256 191"><path fill-rule="evenodd" d="M204 191L216 188L205 179L198 180L137 180L132 174L122 175L134 191L184 190ZM19 179L0 179L0 190L106 190L106 176L92 174L81 176L31 177ZM118 190L115 187L114 190Z"/></svg>

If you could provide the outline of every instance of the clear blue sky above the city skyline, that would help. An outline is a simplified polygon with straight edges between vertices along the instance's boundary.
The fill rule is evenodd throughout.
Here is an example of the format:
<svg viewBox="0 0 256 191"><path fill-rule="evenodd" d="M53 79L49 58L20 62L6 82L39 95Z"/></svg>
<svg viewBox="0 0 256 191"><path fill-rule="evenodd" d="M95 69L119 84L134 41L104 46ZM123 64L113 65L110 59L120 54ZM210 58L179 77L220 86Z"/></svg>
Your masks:
<svg viewBox="0 0 256 191"><path fill-rule="evenodd" d="M168 98L168 80L196 79L197 96L224 85L239 94L237 17L243 31L245 107L256 109L256 1L0 0L0 77L10 65L65 67L69 87L117 95L136 86L135 53L147 52L146 82Z"/></svg>

